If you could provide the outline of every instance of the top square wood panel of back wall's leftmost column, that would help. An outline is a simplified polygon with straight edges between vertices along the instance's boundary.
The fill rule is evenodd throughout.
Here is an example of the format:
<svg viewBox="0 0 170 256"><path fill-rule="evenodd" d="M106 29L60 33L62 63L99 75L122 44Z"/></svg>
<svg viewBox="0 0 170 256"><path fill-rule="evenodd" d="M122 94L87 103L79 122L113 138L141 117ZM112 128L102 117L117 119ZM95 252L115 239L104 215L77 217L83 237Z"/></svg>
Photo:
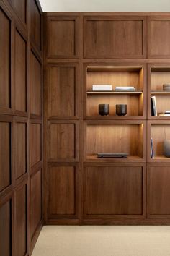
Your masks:
<svg viewBox="0 0 170 256"><path fill-rule="evenodd" d="M79 20L77 17L48 18L48 58L75 58L79 53Z"/></svg>

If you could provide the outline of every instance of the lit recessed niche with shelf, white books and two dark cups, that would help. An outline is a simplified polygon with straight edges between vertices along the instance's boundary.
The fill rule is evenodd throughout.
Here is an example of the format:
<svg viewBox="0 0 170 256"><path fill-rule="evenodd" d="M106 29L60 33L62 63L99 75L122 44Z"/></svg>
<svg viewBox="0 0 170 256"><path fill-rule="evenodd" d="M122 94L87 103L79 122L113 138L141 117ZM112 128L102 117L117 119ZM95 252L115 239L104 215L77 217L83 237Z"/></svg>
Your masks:
<svg viewBox="0 0 170 256"><path fill-rule="evenodd" d="M112 85L113 91L92 91L92 85ZM135 91L115 91L116 86L134 86ZM99 116L99 104L109 104L110 118L116 116L115 105L127 104L127 116L143 116L143 67L86 67L86 116ZM120 118L120 116L117 116Z"/></svg>

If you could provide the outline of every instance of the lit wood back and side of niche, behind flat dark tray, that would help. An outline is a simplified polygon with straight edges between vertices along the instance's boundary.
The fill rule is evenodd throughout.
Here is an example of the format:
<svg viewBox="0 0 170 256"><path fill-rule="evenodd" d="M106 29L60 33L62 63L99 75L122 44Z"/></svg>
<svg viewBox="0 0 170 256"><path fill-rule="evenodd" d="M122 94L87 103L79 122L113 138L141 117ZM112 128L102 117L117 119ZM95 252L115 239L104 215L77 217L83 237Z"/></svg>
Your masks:
<svg viewBox="0 0 170 256"><path fill-rule="evenodd" d="M138 124L87 124L87 158L99 152L124 152L143 158L143 135L140 129L142 127Z"/></svg>

